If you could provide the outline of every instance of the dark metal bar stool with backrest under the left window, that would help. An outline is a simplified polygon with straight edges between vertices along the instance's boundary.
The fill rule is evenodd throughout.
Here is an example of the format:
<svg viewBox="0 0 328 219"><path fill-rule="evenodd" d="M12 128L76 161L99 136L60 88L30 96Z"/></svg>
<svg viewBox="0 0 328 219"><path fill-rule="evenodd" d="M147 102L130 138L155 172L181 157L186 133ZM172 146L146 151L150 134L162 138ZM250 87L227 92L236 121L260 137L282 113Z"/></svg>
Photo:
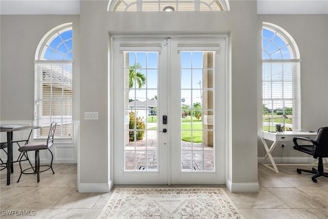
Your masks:
<svg viewBox="0 0 328 219"><path fill-rule="evenodd" d="M22 165L20 164L22 161L22 157L23 157L23 156L21 156L21 158L19 160L20 175L19 175L17 183L19 182L20 176L22 176L22 174L35 174L36 173L37 174L37 182L40 182L40 172L44 172L46 170L51 169L52 173L53 174L55 173L52 169L53 154L50 150L50 147L53 146L53 138L55 135L56 126L57 126L56 122L51 123L49 134L48 134L48 139L46 142L30 143L30 144L27 144L27 145L24 145L24 146L18 148L18 151L23 152L24 154L26 154L28 151L35 151L35 166L23 170ZM40 150L49 150L50 151L50 153L51 153L50 165L40 165L40 156L39 156ZM48 167L48 168L40 171L40 167ZM35 170L34 170L34 168L35 168ZM33 172L26 172L29 169L33 169Z"/></svg>

